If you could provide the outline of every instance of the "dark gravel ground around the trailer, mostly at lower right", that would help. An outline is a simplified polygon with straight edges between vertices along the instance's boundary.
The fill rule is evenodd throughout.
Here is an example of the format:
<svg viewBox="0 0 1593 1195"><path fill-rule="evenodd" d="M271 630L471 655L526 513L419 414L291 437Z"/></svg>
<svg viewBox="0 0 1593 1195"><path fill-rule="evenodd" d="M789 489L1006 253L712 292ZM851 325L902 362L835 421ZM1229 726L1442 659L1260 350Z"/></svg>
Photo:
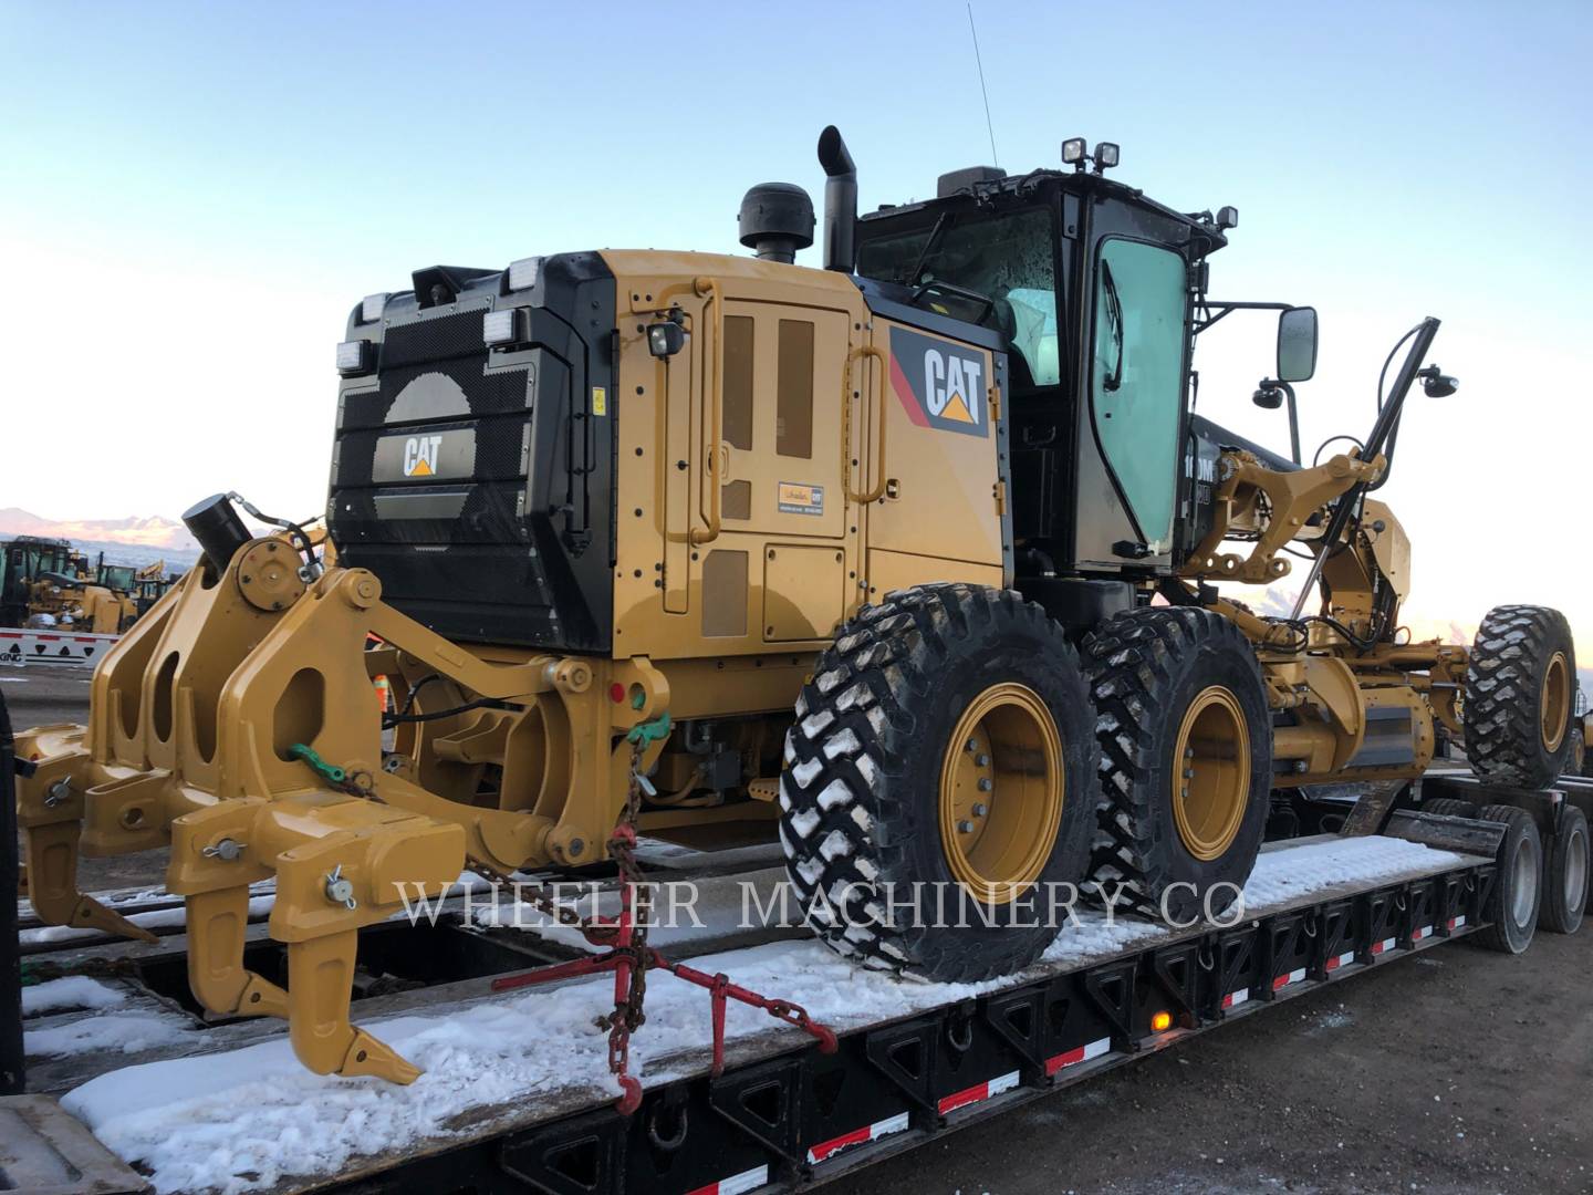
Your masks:
<svg viewBox="0 0 1593 1195"><path fill-rule="evenodd" d="M21 727L86 669L0 671ZM158 881L164 852L84 860ZM881 1162L833 1195L1593 1192L1593 924L1520 958L1443 946Z"/></svg>

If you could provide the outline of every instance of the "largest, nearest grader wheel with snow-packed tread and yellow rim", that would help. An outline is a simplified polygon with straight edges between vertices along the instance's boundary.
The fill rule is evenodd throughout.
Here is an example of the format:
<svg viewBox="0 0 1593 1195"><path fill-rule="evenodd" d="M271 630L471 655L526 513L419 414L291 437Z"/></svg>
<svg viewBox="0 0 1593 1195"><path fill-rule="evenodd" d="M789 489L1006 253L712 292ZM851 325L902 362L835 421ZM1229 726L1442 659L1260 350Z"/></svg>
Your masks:
<svg viewBox="0 0 1593 1195"><path fill-rule="evenodd" d="M1083 880L1093 730L1077 653L1020 594L921 585L865 605L785 736L781 843L809 926L930 980L1034 962L1066 916L1051 886Z"/></svg>

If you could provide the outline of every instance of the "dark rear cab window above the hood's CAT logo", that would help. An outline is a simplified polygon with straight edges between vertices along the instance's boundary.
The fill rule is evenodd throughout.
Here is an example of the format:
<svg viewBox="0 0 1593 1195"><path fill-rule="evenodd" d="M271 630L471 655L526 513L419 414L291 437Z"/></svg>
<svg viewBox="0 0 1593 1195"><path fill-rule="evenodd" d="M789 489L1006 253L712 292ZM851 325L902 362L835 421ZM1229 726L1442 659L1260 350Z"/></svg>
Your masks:
<svg viewBox="0 0 1593 1195"><path fill-rule="evenodd" d="M1018 386L1061 381L1055 261L1043 207L946 214L932 226L881 231L857 250L863 277L911 287L918 306L1000 331L1024 366L1015 365Z"/></svg>

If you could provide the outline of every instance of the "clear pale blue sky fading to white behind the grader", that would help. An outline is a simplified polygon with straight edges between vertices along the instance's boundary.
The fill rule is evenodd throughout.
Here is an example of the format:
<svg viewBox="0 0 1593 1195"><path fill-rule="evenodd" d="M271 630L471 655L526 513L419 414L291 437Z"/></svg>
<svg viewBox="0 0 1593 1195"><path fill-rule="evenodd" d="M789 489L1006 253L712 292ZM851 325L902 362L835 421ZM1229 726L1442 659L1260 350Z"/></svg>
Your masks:
<svg viewBox="0 0 1593 1195"><path fill-rule="evenodd" d="M975 14L1004 167L1118 140L1120 178L1239 207L1219 295L1321 309L1308 451L1364 432L1388 347L1445 319L1435 355L1462 389L1413 403L1384 491L1421 605L1558 601L1593 634L1593 5ZM819 194L832 121L868 207L991 159L961 0L13 2L0 104L0 403L21 432L0 505L56 518L172 515L220 488L314 510L347 308L417 266L739 252L741 193ZM1209 339L1203 405L1281 441L1249 406L1266 330Z"/></svg>

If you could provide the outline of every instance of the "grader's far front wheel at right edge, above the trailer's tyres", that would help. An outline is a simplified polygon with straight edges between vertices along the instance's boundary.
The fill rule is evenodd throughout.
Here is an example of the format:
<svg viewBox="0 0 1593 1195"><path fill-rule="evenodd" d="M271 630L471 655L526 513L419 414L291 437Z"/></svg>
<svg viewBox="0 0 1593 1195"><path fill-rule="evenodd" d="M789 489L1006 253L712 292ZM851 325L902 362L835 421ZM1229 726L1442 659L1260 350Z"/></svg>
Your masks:
<svg viewBox="0 0 1593 1195"><path fill-rule="evenodd" d="M1478 776L1542 789L1566 768L1575 707L1571 626L1545 605L1496 605L1466 669L1466 757Z"/></svg>

